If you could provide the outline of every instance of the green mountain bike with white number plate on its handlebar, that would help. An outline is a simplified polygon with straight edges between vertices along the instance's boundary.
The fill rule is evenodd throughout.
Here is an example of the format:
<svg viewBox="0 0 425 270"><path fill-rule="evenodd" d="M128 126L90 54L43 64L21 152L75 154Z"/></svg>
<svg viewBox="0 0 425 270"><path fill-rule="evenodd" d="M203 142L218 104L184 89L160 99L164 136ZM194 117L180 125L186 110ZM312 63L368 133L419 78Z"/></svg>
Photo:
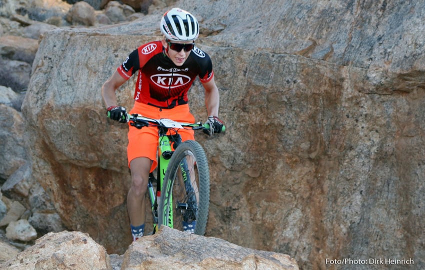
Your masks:
<svg viewBox="0 0 425 270"><path fill-rule="evenodd" d="M153 215L153 232L161 226L203 235L209 208L209 168L202 146L195 140L181 141L181 128L209 129L207 123L182 123L129 115L136 128L158 128L156 178L149 173L148 195ZM225 127L223 126L221 132ZM172 132L168 132L172 131ZM156 192L153 183L156 181ZM162 190L161 190L162 189Z"/></svg>

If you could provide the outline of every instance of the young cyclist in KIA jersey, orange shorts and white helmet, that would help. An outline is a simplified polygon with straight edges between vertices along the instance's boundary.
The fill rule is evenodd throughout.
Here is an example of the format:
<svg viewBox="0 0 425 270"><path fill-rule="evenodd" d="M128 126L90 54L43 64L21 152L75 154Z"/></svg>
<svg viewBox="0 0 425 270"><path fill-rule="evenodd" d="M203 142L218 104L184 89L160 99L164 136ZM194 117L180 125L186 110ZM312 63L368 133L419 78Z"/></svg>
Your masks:
<svg viewBox="0 0 425 270"><path fill-rule="evenodd" d="M115 90L137 71L134 105L128 112L155 119L194 122L188 106L187 91L196 76L205 89L205 106L209 135L220 132L219 93L208 54L195 47L199 24L189 12L172 8L161 17L162 40L151 41L132 51L101 89L109 117L127 121L126 109L118 105ZM193 130L181 129L182 140L194 139ZM137 129L129 125L127 158L131 186L127 194L127 211L133 241L143 236L145 222L144 195L149 172L156 167L157 128ZM183 224L190 231L194 224Z"/></svg>

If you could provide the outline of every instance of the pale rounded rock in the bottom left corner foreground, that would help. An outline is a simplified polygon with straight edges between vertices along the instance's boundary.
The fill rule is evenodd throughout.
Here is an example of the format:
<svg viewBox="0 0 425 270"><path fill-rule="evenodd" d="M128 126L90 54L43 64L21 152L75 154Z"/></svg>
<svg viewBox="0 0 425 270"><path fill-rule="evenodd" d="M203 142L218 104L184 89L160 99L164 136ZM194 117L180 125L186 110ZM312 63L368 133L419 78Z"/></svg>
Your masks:
<svg viewBox="0 0 425 270"><path fill-rule="evenodd" d="M110 269L105 249L88 234L77 231L47 233L35 244L0 264L4 270Z"/></svg>

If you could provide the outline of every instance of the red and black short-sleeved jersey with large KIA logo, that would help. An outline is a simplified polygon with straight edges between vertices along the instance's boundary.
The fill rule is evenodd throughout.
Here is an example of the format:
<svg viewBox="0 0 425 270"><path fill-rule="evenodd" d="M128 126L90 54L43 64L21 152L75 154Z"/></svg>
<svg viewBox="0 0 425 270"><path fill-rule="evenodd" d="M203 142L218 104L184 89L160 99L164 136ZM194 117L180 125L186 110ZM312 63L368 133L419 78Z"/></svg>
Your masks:
<svg viewBox="0 0 425 270"><path fill-rule="evenodd" d="M213 76L211 59L204 51L193 47L186 61L177 66L166 56L160 40L139 46L117 68L125 79L137 70L134 100L160 108L186 104L196 76L201 82Z"/></svg>

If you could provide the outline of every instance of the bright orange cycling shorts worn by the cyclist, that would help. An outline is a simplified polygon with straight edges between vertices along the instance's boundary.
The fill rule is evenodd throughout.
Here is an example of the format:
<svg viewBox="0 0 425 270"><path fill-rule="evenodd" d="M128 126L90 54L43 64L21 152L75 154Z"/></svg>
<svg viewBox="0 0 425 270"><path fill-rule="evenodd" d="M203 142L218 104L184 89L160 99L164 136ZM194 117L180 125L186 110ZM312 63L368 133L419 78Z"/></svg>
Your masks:
<svg viewBox="0 0 425 270"><path fill-rule="evenodd" d="M133 108L128 113L138 113L154 119L168 118L186 123L193 123L195 120L190 113L188 104L165 109L135 101ZM194 131L191 129L179 129L178 133L181 135L182 141L194 139ZM130 167L130 161L134 158L147 157L152 160L150 167L150 172L152 172L157 165L156 152L158 149L158 139L158 128L155 126L143 126L141 129L138 129L129 125L127 145L128 167Z"/></svg>

